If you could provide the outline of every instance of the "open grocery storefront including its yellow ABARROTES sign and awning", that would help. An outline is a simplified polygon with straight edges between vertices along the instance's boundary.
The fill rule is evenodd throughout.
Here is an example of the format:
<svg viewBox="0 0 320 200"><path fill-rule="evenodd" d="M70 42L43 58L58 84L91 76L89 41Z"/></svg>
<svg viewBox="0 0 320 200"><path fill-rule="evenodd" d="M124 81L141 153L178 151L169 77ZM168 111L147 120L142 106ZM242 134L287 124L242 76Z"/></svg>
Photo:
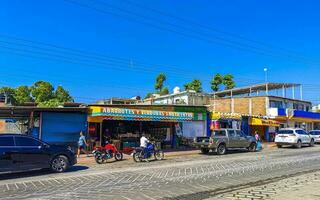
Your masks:
<svg viewBox="0 0 320 200"><path fill-rule="evenodd" d="M149 109L146 106L141 109L128 107L89 107L89 137L95 146L110 140L125 150L139 146L139 139L145 134L162 148L176 148L183 133L194 137L194 134L203 135L206 131L202 114L155 110L157 107L151 106Z"/></svg>

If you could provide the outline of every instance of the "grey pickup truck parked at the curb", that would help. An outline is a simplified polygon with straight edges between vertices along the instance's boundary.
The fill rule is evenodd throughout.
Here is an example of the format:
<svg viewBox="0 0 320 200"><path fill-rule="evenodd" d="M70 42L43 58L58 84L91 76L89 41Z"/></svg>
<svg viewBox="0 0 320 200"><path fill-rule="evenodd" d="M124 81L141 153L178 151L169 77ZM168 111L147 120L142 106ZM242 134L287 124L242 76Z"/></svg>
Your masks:
<svg viewBox="0 0 320 200"><path fill-rule="evenodd" d="M210 150L218 155L225 154L228 149L246 148L251 152L256 151L257 142L252 136L246 136L236 129L216 129L210 137L194 138L194 146L207 154Z"/></svg>

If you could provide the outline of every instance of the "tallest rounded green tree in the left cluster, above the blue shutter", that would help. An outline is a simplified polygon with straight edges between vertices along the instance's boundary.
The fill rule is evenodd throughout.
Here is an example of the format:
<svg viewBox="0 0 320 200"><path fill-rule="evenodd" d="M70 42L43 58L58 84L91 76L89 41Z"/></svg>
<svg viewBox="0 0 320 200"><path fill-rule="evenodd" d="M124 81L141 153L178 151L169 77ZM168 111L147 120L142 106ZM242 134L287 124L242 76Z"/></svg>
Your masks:
<svg viewBox="0 0 320 200"><path fill-rule="evenodd" d="M31 86L31 94L35 99L36 103L42 103L49 101L54 98L54 88L51 83L46 81L38 81L35 82L33 86Z"/></svg>

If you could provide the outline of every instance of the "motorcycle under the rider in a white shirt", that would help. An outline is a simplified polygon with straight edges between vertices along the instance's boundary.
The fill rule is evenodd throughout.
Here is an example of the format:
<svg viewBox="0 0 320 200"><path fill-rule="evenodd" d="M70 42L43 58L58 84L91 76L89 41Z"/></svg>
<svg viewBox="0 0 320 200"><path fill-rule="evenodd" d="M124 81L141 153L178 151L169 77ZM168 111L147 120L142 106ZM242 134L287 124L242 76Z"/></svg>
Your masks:
<svg viewBox="0 0 320 200"><path fill-rule="evenodd" d="M132 157L135 162L148 160L151 157L154 157L156 160L163 160L164 153L162 150L158 149L154 143L149 143L145 150L142 147L135 148Z"/></svg>

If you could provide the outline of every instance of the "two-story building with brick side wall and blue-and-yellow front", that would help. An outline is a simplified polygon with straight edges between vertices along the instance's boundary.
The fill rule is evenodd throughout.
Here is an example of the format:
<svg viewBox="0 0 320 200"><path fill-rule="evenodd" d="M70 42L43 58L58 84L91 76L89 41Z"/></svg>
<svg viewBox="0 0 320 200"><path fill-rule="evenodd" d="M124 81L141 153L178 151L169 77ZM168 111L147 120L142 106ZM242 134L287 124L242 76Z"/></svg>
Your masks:
<svg viewBox="0 0 320 200"><path fill-rule="evenodd" d="M298 97L298 98L296 98ZM320 114L311 112L312 103L303 100L300 84L266 83L218 91L213 94L209 109L213 113L242 116L242 128L248 134L261 133L271 141L279 128L314 128Z"/></svg>

